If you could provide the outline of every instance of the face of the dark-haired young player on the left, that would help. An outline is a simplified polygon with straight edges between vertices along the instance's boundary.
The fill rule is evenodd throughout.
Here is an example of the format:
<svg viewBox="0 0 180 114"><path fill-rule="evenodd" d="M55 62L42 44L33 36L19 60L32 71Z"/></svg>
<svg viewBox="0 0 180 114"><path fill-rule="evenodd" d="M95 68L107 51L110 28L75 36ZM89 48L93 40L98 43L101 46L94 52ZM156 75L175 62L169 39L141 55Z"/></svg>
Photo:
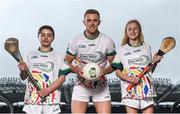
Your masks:
<svg viewBox="0 0 180 114"><path fill-rule="evenodd" d="M53 39L53 33L49 29L43 29L39 34L39 41L42 47L50 47Z"/></svg>

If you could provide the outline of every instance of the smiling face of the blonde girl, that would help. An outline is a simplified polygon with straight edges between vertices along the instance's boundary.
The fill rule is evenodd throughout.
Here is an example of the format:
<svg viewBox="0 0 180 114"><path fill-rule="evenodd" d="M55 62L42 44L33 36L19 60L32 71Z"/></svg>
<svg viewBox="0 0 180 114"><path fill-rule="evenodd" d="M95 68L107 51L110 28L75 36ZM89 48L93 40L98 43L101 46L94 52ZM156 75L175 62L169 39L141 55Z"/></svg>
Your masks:
<svg viewBox="0 0 180 114"><path fill-rule="evenodd" d="M126 28L129 40L137 40L140 36L140 28L137 23L129 23Z"/></svg>

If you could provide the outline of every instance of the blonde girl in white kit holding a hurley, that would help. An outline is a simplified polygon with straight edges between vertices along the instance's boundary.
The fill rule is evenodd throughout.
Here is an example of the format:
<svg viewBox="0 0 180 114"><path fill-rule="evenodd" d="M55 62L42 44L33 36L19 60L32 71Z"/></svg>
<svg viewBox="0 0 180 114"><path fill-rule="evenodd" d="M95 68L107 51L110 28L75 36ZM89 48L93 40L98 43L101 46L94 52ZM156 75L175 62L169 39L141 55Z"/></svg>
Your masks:
<svg viewBox="0 0 180 114"><path fill-rule="evenodd" d="M154 55L152 59L151 47L144 42L141 25L137 20L130 20L125 27L125 35L118 54L112 66L116 68L116 75L121 79L122 104L127 113L153 113L156 96L151 81L151 72L141 79L138 74L151 61L159 61L161 57ZM155 67L154 67L155 68ZM130 92L126 90L130 83L134 86Z"/></svg>

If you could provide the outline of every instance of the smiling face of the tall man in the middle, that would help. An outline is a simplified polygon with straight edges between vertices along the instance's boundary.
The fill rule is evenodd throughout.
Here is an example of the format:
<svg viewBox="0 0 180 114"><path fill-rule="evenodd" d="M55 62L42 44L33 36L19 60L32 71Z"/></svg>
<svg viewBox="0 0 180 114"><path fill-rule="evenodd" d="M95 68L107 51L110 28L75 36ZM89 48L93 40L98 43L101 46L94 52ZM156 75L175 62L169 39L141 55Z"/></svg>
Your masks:
<svg viewBox="0 0 180 114"><path fill-rule="evenodd" d="M95 34L98 30L100 19L97 14L86 14L83 22L86 26L86 31L90 34Z"/></svg>

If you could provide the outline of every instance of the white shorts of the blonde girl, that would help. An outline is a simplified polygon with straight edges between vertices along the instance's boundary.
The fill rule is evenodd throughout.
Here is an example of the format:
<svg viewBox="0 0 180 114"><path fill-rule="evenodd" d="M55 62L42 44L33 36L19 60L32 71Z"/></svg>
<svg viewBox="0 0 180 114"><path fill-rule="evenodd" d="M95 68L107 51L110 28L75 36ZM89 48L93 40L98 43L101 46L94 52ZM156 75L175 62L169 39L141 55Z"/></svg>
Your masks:
<svg viewBox="0 0 180 114"><path fill-rule="evenodd" d="M155 102L153 98L147 98L147 99L122 99L121 103L123 105L126 105L128 107L136 108L136 109L144 109L150 105L154 105Z"/></svg>

